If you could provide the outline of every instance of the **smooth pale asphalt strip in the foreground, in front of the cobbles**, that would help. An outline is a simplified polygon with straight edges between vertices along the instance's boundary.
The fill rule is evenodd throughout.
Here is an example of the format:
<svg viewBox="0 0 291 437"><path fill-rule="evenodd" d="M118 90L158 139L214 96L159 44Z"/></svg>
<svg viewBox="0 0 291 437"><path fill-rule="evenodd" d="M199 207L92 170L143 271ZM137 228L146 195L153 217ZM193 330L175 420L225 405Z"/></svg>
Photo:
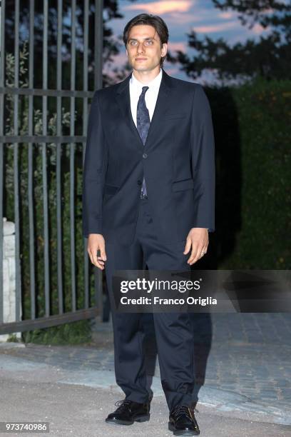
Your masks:
<svg viewBox="0 0 291 437"><path fill-rule="evenodd" d="M43 375L44 376L44 375ZM167 408L162 396L153 400L150 421L119 427L104 422L116 401L116 393L101 388L42 381L1 383L1 416L4 420L48 421L52 436L74 437L162 437L168 431ZM6 393L5 399L2 398ZM16 416L16 411L18 411ZM200 406L196 417L205 437L287 437L291 428L256 421L249 413L229 416L215 408ZM1 434L2 435L2 434ZM8 434L5 434L8 436ZM17 435L17 434L12 434ZM18 434L27 436L27 434ZM34 434L35 435L35 434ZM46 434L42 434L46 436ZM38 434L41 436L41 434Z"/></svg>

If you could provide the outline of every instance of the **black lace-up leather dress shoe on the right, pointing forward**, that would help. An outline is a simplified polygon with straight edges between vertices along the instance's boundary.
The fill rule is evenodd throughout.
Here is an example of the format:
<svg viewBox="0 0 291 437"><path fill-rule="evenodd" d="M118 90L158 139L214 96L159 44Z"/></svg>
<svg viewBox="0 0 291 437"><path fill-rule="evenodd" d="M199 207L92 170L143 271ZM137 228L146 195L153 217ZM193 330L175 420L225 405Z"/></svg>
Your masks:
<svg viewBox="0 0 291 437"><path fill-rule="evenodd" d="M174 436L198 436L200 434L194 411L188 406L175 406L170 411L168 428Z"/></svg>

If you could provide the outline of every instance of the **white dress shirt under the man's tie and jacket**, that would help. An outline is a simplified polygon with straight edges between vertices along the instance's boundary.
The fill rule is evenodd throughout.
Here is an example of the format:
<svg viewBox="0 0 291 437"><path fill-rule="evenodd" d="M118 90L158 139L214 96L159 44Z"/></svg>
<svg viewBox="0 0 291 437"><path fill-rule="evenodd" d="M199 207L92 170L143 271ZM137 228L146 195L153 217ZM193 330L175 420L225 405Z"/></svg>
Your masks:
<svg viewBox="0 0 291 437"><path fill-rule="evenodd" d="M160 81L162 80L163 70L160 69L160 73L148 84L142 84L136 77L131 74L131 80L129 81L129 93L131 96L131 114L133 116L133 121L137 126L136 113L138 109L138 99L141 95L143 86L148 86L148 91L146 91L146 107L148 108L148 114L150 116L150 121L153 117L153 111L155 111L155 104L158 99L158 90L160 89Z"/></svg>

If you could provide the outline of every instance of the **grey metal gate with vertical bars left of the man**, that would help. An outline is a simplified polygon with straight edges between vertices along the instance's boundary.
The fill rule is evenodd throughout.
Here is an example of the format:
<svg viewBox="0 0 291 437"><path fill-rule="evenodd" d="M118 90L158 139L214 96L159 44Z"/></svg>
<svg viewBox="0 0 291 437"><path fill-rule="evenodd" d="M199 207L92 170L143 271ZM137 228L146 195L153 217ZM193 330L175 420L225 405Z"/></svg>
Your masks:
<svg viewBox="0 0 291 437"><path fill-rule="evenodd" d="M91 266L88 265L88 253L86 249L86 239L82 241L82 261L83 266L77 265L76 261L76 145L78 144L83 149L83 156L86 144L86 129L88 121L88 99L93 96L93 90L101 87L102 84L102 41L103 41L103 4L102 0L84 0L81 2L81 13L82 13L82 24L81 29L82 34L82 47L80 49L76 47L78 43L77 34L80 33L80 23L76 21L77 13L80 14L80 2L76 4L76 0L66 1L66 17L63 16L63 0L58 0L53 2L55 4L55 33L56 33L56 87L55 89L48 89L48 49L52 49L51 46L48 47L48 31L49 23L51 22L51 17L48 16L51 8L51 2L48 0L43 0L38 3L41 4L41 36L42 42L35 39L35 31L37 23L35 22L35 10L36 4L34 0L25 2L27 7L27 12L29 13L24 17L21 14L21 1L4 1L1 0L1 65L0 65L0 333L11 333L16 331L26 331L33 328L44 328L47 326L53 326L60 323L66 323L68 321L76 321L82 318L91 318L95 316L98 311L100 311L101 306L101 274L98 273L96 268L94 268L94 298L91 299ZM13 7L14 11L7 8ZM6 16L11 14L14 17L14 83L7 83L7 71L6 71ZM20 71L20 45L19 45L19 35L21 31L23 32L22 21L26 18L26 31L28 34L28 64L27 64L27 84L19 84L19 71ZM94 44L89 46L88 44L88 33L89 30L89 18L90 22L93 19L93 39ZM38 11L39 19L39 11ZM63 89L62 86L62 74L63 74L63 62L62 62L62 39L63 39L63 24L66 20L66 30L69 28L71 34L66 35L66 38L71 40L69 53L66 54L70 61L70 66L66 68L66 76L69 77L68 89ZM78 27L77 27L78 24ZM38 26L37 31L39 32L40 26ZM36 49L36 44L42 44L41 52L42 59L34 59L34 53ZM77 50L78 49L78 50ZM81 57L76 58L76 53L80 54L83 51L82 66ZM39 52L39 51L38 51ZM91 59L93 59L93 65L89 65L88 59L89 54ZM78 62L77 62L78 61ZM67 64L68 65L68 64ZM36 66L42 70L42 85L35 87L34 77L36 76ZM88 89L88 71L89 68L93 69L93 83L91 90ZM51 70L50 70L51 71ZM82 75L83 86L82 89L76 89L76 71L78 74ZM51 73L50 73L51 74ZM92 82L92 81L91 81ZM6 131L6 99L11 99L13 105L13 120L11 119L11 125L13 129L7 134ZM19 101L20 99L27 99L28 114L27 114L27 132L21 134L19 130ZM35 126L35 102L39 99L41 100L41 133L36 134ZM56 105L56 129L55 134L49 134L48 130L48 99L53 99ZM67 134L63 134L62 125L62 100L69 99L69 126L67 126ZM81 130L81 134L76 134L76 123L75 123L75 113L76 113L76 99L81 99L82 104L82 124L83 126L78 126ZM80 101L78 104L80 107ZM49 184L47 166L48 166L48 144L53 144L56 150L55 156L55 168L56 168L56 196L53 201L56 204L56 216L52 218L53 224L49 222ZM65 296L64 296L64 285L63 285L63 228L62 228L62 190L61 190L61 180L63 176L62 168L62 153L63 147L66 145L68 148L68 174L69 177L69 246L70 246L70 294L68 301L69 305L64 306ZM43 253L41 254L42 263L44 265L44 290L41 290L43 296L43 310L42 312L37 311L39 306L38 292L37 292L37 279L36 279L36 266L39 262L39 253L36 253L36 216L34 208L34 189L35 189L35 167L34 167L34 151L35 148L41 153L41 203L42 203L42 241L43 241ZM29 235L23 235L21 233L21 216L19 215L20 203L21 203L21 189L19 187L20 176L20 156L26 153L27 156L27 222L28 228L27 232ZM3 216L7 214L5 207L5 193L6 193L6 154L13 154L13 196L14 196L14 216L8 216L7 219L14 221L15 223L15 253L16 253L16 314L15 322L4 323L3 319ZM21 153L21 154L20 154ZM83 161L82 161L83 162ZM11 195L11 193L10 193ZM55 246L51 244L50 229L56 230L56 241ZM56 229L55 229L56 228ZM23 232L23 231L22 231ZM21 320L23 313L23 296L24 296L24 284L21 281L22 278L22 268L24 257L22 256L22 246L24 238L29 240L29 281L26 280L25 286L29 288L29 316L26 316L26 320ZM51 251L56 251L56 288L57 291L55 299L57 300L57 311L52 311L51 296L53 293L51 277L52 268L50 263ZM68 254L66 253L66 256ZM27 266L26 266L27 267ZM83 289L76 289L76 268L80 271L83 269ZM68 287L66 287L66 293L68 293ZM78 308L77 296L81 296L81 301L83 302L83 308ZM21 303L22 302L22 303ZM68 306L70 308L68 308ZM68 311L69 310L69 311Z"/></svg>

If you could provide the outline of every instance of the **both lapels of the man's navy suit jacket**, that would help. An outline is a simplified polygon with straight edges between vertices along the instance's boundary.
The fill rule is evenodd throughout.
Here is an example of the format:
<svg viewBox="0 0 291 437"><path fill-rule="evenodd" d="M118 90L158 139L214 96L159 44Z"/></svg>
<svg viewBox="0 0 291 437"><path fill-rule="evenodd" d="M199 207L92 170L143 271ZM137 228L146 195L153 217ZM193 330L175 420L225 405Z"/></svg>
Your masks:
<svg viewBox="0 0 291 437"><path fill-rule="evenodd" d="M169 91L171 86L170 76L165 73L163 70L162 80L160 82L160 89L158 91L158 99L155 104L155 111L153 112L153 117L150 122L150 129L148 130L148 137L146 139L146 144L143 146L143 141L141 141L141 137L138 134L138 129L136 129L136 124L133 121L133 117L131 114L131 96L129 93L129 81L131 80L131 75L128 76L124 81L121 82L118 86L118 90L116 93L116 100L118 102L118 106L121 109L124 119L128 124L129 129L133 132L133 134L137 137L142 147L146 147L150 142L150 139L153 139L155 135L156 129L160 126L160 121L163 119L163 114L165 114L165 110L170 105L169 99Z"/></svg>

